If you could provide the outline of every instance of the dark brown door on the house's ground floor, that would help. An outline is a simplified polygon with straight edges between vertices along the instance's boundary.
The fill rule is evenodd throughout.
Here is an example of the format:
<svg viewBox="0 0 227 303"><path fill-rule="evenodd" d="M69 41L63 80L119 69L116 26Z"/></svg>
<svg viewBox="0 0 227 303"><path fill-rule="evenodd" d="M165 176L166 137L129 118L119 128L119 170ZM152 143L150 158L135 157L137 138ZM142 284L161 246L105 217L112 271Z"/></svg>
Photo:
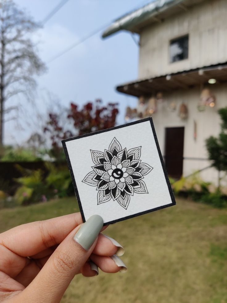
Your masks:
<svg viewBox="0 0 227 303"><path fill-rule="evenodd" d="M166 128L165 165L170 177L180 178L183 172L184 127Z"/></svg>

